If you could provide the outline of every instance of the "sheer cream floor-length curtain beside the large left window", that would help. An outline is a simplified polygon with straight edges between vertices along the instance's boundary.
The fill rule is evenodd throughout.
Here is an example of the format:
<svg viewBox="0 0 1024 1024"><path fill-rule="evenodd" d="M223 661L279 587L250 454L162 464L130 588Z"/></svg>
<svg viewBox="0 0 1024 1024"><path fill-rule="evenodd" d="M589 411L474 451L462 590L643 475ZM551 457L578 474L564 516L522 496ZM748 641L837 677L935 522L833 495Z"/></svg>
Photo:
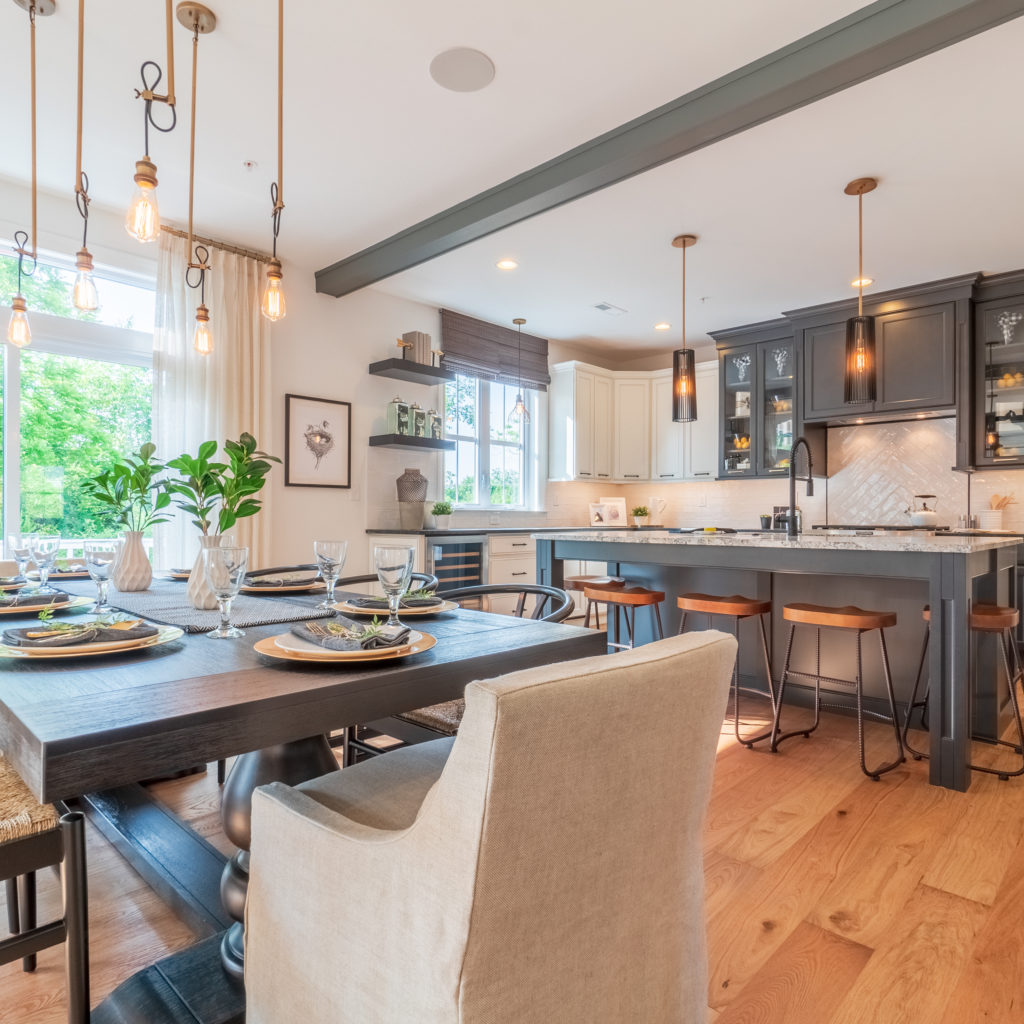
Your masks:
<svg viewBox="0 0 1024 1024"><path fill-rule="evenodd" d="M248 256L211 247L206 304L210 307L213 353L193 348L199 292L185 285L186 242L160 236L157 315L153 346L153 439L161 459L196 454L206 440L221 449L227 438L251 433L273 455L270 409L269 326L260 315L262 267ZM274 469L274 472L279 470ZM269 487L263 492L269 494ZM231 532L250 549L249 564L265 564L271 509L241 519ZM161 567L189 566L199 550L198 530L175 512L154 528L154 561Z"/></svg>

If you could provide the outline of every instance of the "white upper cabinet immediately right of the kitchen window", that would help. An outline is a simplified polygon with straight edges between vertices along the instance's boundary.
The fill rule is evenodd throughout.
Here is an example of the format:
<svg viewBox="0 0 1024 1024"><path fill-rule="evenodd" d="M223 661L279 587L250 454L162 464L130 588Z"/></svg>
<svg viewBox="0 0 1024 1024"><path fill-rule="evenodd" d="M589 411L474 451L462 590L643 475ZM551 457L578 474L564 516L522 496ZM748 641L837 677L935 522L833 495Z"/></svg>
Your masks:
<svg viewBox="0 0 1024 1024"><path fill-rule="evenodd" d="M551 368L548 478L611 478L611 372L585 362Z"/></svg>

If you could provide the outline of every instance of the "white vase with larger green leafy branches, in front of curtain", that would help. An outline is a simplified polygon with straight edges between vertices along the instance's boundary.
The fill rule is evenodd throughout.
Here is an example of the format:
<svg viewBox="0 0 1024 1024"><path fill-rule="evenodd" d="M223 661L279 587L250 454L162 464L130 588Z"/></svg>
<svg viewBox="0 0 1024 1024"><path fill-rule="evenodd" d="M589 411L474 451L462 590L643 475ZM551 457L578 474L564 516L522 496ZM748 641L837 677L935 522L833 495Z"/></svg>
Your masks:
<svg viewBox="0 0 1024 1024"><path fill-rule="evenodd" d="M165 481L172 501L191 517L200 529L200 549L188 577L188 600L196 608L215 608L217 598L206 580L203 552L216 548L223 536L239 521L255 515L262 507L256 497L266 482L272 463L281 460L257 447L256 438L243 433L224 441L226 462L215 461L216 441L204 441L195 456L179 455L167 463L177 476Z"/></svg>

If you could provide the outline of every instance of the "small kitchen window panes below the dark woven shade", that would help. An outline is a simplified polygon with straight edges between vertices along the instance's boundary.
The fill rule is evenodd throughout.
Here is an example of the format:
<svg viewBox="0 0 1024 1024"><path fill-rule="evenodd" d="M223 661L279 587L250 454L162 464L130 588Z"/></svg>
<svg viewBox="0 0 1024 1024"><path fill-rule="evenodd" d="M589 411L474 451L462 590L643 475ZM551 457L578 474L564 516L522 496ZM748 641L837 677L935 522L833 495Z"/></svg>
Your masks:
<svg viewBox="0 0 1024 1024"><path fill-rule="evenodd" d="M458 376L444 386L444 497L454 505L522 508L536 476L530 424L510 419L515 387ZM531 416L534 392L524 390Z"/></svg>

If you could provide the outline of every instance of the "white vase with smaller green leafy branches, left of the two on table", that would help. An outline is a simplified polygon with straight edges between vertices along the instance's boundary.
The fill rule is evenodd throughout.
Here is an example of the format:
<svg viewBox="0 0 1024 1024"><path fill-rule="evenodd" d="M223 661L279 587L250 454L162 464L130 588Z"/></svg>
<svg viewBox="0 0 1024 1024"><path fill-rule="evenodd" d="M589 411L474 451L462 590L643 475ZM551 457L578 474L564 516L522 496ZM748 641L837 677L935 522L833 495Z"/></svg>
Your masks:
<svg viewBox="0 0 1024 1024"><path fill-rule="evenodd" d="M124 543L111 580L121 591L145 590L153 582L153 566L142 546L142 534L167 522L161 512L171 504L170 495L157 476L164 471L154 459L157 446L147 441L137 453L118 459L86 484L89 494L105 505L111 517L124 527Z"/></svg>

